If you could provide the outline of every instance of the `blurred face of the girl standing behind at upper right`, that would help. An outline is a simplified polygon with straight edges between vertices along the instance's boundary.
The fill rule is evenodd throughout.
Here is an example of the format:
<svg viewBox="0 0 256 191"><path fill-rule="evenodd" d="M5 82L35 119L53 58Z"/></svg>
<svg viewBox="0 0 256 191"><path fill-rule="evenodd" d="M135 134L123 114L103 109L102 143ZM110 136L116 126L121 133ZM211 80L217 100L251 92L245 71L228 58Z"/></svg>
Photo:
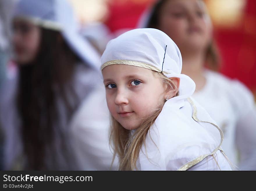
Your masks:
<svg viewBox="0 0 256 191"><path fill-rule="evenodd" d="M182 53L205 49L211 41L211 23L200 0L169 0L159 12L159 29L178 45Z"/></svg>

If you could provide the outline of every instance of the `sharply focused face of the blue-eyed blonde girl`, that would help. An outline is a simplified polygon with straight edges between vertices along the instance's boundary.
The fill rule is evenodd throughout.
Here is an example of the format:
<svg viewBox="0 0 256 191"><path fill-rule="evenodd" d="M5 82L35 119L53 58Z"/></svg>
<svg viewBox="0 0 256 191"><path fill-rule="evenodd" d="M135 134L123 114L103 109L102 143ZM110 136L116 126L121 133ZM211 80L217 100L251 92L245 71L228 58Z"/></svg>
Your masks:
<svg viewBox="0 0 256 191"><path fill-rule="evenodd" d="M138 128L171 96L160 76L149 69L115 64L105 67L102 75L109 111L128 130Z"/></svg>

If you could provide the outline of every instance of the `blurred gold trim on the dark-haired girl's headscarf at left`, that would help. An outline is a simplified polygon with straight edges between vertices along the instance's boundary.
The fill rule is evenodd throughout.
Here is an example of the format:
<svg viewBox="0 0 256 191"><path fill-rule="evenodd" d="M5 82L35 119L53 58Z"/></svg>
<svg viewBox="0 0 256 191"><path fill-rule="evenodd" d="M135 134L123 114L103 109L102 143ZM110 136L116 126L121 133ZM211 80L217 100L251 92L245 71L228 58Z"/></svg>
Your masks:
<svg viewBox="0 0 256 191"><path fill-rule="evenodd" d="M16 19L29 21L35 25L41 26L43 28L55 30L55 31L62 30L62 26L59 23L54 22L54 21L49 21L49 20L43 20L38 17L28 17L28 16L21 15L21 16L17 16Z"/></svg>

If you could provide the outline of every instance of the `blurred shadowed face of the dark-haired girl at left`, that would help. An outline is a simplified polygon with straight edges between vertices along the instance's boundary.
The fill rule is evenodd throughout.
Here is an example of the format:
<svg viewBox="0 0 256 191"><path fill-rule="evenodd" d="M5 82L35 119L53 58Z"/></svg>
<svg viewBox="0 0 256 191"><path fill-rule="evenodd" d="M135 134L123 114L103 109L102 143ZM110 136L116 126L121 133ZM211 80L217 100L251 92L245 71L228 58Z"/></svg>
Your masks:
<svg viewBox="0 0 256 191"><path fill-rule="evenodd" d="M39 27L30 22L14 20L13 45L17 63L29 63L36 58L40 46L40 37Z"/></svg>

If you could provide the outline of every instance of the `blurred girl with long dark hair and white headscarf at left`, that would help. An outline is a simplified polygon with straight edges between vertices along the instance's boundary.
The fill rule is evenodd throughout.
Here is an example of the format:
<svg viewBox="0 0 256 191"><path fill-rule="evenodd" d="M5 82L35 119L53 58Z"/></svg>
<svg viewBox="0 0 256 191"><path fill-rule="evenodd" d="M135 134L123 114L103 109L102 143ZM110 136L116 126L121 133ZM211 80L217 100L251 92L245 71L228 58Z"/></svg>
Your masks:
<svg viewBox="0 0 256 191"><path fill-rule="evenodd" d="M109 170L100 55L70 4L20 0L12 26L18 75L1 94L4 169Z"/></svg>

